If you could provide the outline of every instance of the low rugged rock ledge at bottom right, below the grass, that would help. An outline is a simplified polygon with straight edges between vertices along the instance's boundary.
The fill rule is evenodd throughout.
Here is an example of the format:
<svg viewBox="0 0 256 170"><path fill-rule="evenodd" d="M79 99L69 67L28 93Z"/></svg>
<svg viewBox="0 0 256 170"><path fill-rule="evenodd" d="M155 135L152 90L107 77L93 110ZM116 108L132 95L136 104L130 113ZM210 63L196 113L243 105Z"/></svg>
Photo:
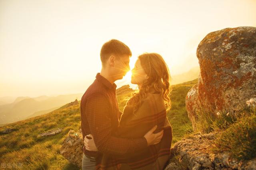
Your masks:
<svg viewBox="0 0 256 170"><path fill-rule="evenodd" d="M194 134L174 144L171 157L178 155L180 163L190 170L255 170L256 158L249 161L238 161L230 157L229 152L214 154L210 148L216 139L216 132ZM178 169L178 165L170 162L165 170Z"/></svg>

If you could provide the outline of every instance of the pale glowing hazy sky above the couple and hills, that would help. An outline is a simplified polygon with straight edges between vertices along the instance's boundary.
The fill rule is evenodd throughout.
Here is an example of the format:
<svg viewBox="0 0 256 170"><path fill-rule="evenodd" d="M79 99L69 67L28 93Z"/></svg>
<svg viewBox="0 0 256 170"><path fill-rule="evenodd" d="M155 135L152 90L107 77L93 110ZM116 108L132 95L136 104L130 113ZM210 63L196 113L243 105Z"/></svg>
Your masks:
<svg viewBox="0 0 256 170"><path fill-rule="evenodd" d="M255 9L256 0L0 0L0 97L84 93L110 39L130 47L131 69L157 52L171 75L186 72L206 34L255 27Z"/></svg>

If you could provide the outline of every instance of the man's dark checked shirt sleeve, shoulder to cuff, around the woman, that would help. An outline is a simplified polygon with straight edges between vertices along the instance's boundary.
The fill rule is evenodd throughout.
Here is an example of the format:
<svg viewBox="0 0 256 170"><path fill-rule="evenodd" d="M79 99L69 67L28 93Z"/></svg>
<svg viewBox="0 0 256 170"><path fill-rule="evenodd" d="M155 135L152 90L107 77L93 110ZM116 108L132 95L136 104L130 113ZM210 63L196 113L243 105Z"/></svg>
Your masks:
<svg viewBox="0 0 256 170"><path fill-rule="evenodd" d="M122 155L146 148L148 143L145 137L128 139L111 136L110 107L111 104L102 93L93 93L86 103L86 118L98 150L103 153Z"/></svg>

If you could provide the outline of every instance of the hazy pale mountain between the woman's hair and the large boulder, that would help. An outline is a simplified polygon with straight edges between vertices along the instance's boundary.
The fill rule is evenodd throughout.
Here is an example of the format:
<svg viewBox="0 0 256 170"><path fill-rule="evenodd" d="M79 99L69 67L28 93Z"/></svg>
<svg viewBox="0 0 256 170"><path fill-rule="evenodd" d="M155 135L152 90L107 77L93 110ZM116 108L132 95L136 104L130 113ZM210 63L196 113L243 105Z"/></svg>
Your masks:
<svg viewBox="0 0 256 170"><path fill-rule="evenodd" d="M172 77L171 84L175 85L175 84L179 84L179 83L197 79L199 73L200 73L200 67L198 66L198 67L193 67L192 69L190 69L189 71L187 71L185 73L181 73L181 74L173 75L173 76L171 75L171 77Z"/></svg>

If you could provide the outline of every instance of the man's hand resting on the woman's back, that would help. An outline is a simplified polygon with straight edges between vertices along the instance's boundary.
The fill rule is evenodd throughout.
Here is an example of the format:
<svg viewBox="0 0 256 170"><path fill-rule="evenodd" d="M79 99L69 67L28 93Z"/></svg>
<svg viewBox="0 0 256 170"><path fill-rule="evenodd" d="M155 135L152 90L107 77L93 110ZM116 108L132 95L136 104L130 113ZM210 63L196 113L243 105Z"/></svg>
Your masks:
<svg viewBox="0 0 256 170"><path fill-rule="evenodd" d="M157 125L154 126L152 129L150 129L145 135L144 138L146 138L147 142L148 142L148 146L150 145L154 145L154 144L158 144L164 134L164 130L161 130L158 133L153 133L157 128Z"/></svg>

